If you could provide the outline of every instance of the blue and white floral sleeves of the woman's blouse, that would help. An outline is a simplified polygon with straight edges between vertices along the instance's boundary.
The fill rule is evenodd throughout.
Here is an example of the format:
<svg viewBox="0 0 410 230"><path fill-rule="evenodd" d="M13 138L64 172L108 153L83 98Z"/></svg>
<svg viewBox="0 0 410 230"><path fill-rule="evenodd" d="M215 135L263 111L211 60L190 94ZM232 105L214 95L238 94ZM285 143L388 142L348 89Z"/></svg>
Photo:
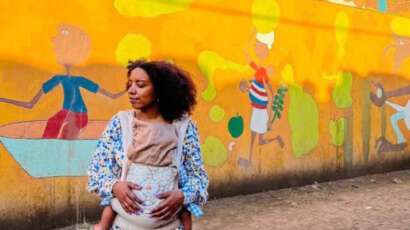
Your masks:
<svg viewBox="0 0 410 230"><path fill-rule="evenodd" d="M187 127L182 155L179 189L184 194L184 206L192 215L200 217L203 215L202 206L208 199L209 181L201 157L198 129L192 121ZM98 141L88 168L87 189L101 197L101 206L110 205L112 187L120 178L124 160L120 119L114 116Z"/></svg>

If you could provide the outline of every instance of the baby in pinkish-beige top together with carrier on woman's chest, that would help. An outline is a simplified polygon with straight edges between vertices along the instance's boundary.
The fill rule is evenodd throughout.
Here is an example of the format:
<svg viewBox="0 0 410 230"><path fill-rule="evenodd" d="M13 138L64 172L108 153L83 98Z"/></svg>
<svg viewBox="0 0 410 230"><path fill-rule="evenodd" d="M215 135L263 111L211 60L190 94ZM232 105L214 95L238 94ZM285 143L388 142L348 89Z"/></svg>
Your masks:
<svg viewBox="0 0 410 230"><path fill-rule="evenodd" d="M129 226L130 229L176 229L182 223L185 230L192 228L191 214L182 208L168 220L150 216L161 202L160 193L178 188L178 128L165 122L147 122L132 116L127 121L125 112L120 113L124 149L127 161L121 173L121 181L129 181L141 187L134 194L142 201L140 210L127 213L117 198L104 208L95 230L110 229L112 225ZM132 123L131 133L127 125ZM131 138L127 140L126 138ZM129 144L127 144L129 143ZM177 215L178 214L178 215Z"/></svg>

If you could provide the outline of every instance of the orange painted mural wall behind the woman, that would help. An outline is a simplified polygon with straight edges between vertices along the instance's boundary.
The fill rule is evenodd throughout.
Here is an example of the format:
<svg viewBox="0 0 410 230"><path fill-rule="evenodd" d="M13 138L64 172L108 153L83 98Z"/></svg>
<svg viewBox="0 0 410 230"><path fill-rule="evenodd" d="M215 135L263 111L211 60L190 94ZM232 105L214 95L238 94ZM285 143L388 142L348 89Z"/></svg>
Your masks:
<svg viewBox="0 0 410 230"><path fill-rule="evenodd" d="M125 66L139 58L192 73L215 189L408 160L409 6L2 1L0 184L14 186L0 186L1 216L95 207L87 165L107 121L130 108Z"/></svg>

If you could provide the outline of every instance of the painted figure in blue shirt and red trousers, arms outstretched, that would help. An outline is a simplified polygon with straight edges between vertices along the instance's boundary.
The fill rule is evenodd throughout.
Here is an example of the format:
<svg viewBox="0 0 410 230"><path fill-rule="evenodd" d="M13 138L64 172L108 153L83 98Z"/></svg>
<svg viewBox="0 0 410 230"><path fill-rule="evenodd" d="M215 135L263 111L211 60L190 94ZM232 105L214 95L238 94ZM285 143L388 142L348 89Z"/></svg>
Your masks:
<svg viewBox="0 0 410 230"><path fill-rule="evenodd" d="M64 67L65 73L55 75L43 83L42 88L29 102L8 98L0 98L0 102L31 109L44 94L61 85L64 92L63 108L48 119L42 137L76 139L81 129L88 123L87 107L81 95L81 88L92 93L101 93L111 99L116 99L125 93L121 91L112 94L84 76L71 75L72 67L87 59L90 43L88 35L80 28L70 25L60 26L57 36L53 38L53 45L57 62Z"/></svg>

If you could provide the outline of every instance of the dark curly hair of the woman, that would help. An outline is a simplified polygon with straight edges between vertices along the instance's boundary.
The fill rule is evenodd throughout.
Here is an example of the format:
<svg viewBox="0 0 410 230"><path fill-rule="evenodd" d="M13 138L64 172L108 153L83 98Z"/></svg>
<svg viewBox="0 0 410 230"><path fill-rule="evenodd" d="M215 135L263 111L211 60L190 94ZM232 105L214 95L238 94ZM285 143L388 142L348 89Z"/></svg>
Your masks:
<svg viewBox="0 0 410 230"><path fill-rule="evenodd" d="M196 88L188 72L165 61L137 60L129 61L128 77L135 68L148 74L159 112L166 121L172 122L192 113L196 105Z"/></svg>

